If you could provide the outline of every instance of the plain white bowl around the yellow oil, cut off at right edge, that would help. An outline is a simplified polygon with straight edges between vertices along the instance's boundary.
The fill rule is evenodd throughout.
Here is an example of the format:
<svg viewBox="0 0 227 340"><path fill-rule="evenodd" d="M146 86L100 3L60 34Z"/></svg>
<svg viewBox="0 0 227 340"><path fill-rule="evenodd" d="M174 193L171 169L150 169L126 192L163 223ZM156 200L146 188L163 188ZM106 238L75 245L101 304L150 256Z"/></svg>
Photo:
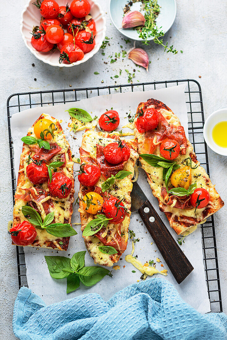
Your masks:
<svg viewBox="0 0 227 340"><path fill-rule="evenodd" d="M204 139L207 143L207 145L213 150L214 152L218 153L222 156L227 156L227 148L222 148L218 146L212 137L212 130L214 126L219 123L227 121L227 108L223 108L220 110L217 110L213 112L206 120L204 124ZM226 138L227 138L227 132L226 132Z"/></svg>

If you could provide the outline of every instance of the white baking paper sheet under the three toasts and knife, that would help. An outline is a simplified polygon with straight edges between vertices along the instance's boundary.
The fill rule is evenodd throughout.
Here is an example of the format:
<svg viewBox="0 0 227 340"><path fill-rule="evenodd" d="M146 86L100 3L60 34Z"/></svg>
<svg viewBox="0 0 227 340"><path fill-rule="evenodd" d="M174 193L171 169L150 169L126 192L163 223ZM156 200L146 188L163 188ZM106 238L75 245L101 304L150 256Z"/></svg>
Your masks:
<svg viewBox="0 0 227 340"><path fill-rule="evenodd" d="M76 134L69 131L68 128L69 115L67 112L65 112L65 110L70 107L79 107L85 109L89 113L92 112L91 113L92 116L96 115L98 117L102 113L104 113L106 109L110 109L111 107L113 107L113 109L116 110L120 116L121 124L117 129L120 131L121 127L128 123L126 113L129 114L131 112L132 114L134 114L137 105L140 102L146 101L149 98L155 98L165 103L180 118L181 124L184 126L186 135L188 136L188 118L184 88L185 88L184 85L180 85L145 92L135 91L113 95L105 95L93 97L90 99L83 99L75 103L72 102L64 105L35 107L14 114L12 116L11 121L11 131L13 137L14 161L16 172L17 169L19 168L20 153L22 150L22 142L20 138L27 135L27 131L30 128L30 126L43 112L50 114L51 116L59 120L62 120L61 123L62 128L71 145L72 154L75 154L75 157L76 155L79 156L78 150L81 145L83 131L77 132ZM130 131L130 129L125 129L125 131L127 130ZM78 169L79 165L75 164L74 170L76 171ZM166 226L168 227L171 234L176 240L178 236L169 227L169 223L164 213L160 212L158 207L158 201L155 197L153 197L150 190L150 186L146 180L146 175L142 169L140 169L138 183L144 189L147 198L150 200L151 204L155 207L156 211L159 213L162 220L164 221L164 223L166 224ZM75 191L78 192L78 190L79 183L76 180ZM75 193L75 200L76 198L77 194ZM78 205L74 205L72 222L80 222L79 213L77 209ZM79 289L67 295L66 279L55 280L51 278L44 256L61 255L72 257L74 253L84 250L85 245L83 242L80 225L75 226L75 228L77 230L78 235L72 236L70 238L67 252L64 251L58 252L49 249L44 250L40 248L25 247L25 259L29 288L34 293L42 297L42 299L47 305L52 304L54 302L60 302L85 293L98 293L103 297L105 301L107 301L118 290L121 290L124 287L137 282L138 279L140 280L141 272L139 270L136 270L136 273L132 273L132 270L135 270L135 268L131 265L131 263L127 263L125 261L125 255L130 254L132 250L132 243L131 240L129 240L127 250L121 256L121 260L119 260L117 263L117 265L120 266L120 270L112 270L113 274L112 278L109 276L104 277L99 283L97 283L93 287L85 287L81 284ZM156 245L152 243L153 240L151 236L149 235L148 232L146 232L146 227L141 222L139 214L132 213L130 229L134 231L136 238L140 238L140 242L135 243L134 255L137 254L138 259L143 263L149 261L150 259L154 260L156 262L156 268L158 270L168 269ZM189 303L192 307L197 309L199 312L201 313L209 312L210 302L208 298L207 286L205 281L201 245L201 232L199 227L195 232L193 232L185 239L185 243L182 244L181 248L194 267L192 273L180 285L176 283L173 275L169 270L167 276L161 275L157 276L169 280L169 282L171 282L176 287L182 299L185 302ZM161 259L161 262L156 261L157 257ZM164 267L161 267L161 264L163 264ZM86 253L85 255L85 265L87 266L94 265L93 259L88 255L88 253ZM125 268L123 268L124 266ZM153 277L155 277L155 275Z"/></svg>

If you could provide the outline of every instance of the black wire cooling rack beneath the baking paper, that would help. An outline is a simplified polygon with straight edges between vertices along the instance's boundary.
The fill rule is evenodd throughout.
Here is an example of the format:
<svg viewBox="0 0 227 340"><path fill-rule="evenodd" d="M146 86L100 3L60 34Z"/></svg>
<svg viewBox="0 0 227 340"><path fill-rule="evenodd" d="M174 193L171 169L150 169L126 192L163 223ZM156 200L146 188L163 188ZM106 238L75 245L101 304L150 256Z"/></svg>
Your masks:
<svg viewBox="0 0 227 340"><path fill-rule="evenodd" d="M194 147L194 151L198 156L200 164L209 174L207 145L204 141L202 129L204 125L204 113L202 106L201 88L195 80L173 80L164 82L138 83L104 87L89 87L80 89L52 90L52 91L36 91L25 92L11 95L7 100L7 116L9 126L9 143L10 143L10 160L13 188L13 202L16 191L16 177L13 159L13 141L11 137L10 122L12 114L23 111L36 106L47 106L55 104L63 104L75 102L84 98L101 96L107 94L116 94L118 92L146 91L164 87L171 87L181 83L186 84L185 96L188 108L189 120L189 139ZM17 171L18 164L16 165ZM213 216L208 218L204 224L201 224L202 233L202 250L204 254L205 275L208 288L209 299L211 303L211 311L222 311L222 298L220 289L220 279L218 271L217 248L214 230ZM16 246L17 253L17 269L19 287L27 286L25 253L23 247Z"/></svg>

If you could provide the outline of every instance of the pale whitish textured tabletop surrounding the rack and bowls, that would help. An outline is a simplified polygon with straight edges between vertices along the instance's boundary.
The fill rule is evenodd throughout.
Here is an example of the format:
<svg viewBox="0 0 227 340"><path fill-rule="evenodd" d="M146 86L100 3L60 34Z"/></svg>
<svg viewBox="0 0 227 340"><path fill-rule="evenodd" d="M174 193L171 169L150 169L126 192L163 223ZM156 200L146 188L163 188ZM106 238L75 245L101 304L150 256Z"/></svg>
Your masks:
<svg viewBox="0 0 227 340"><path fill-rule="evenodd" d="M6 233L7 222L12 219L12 184L10 171L10 155L7 129L6 100L16 92L66 89L115 85L111 76L119 74L117 83L127 83L124 69L133 70L134 65L127 58L114 64L108 62L108 55L120 51L119 45L128 50L133 44L125 44L123 36L115 29L108 14L108 0L98 0L106 13L107 36L112 37L111 45L103 57L99 51L85 64L73 68L54 68L37 60L27 49L20 35L20 13L26 0L0 0L1 22L1 175L0 175L0 334L1 338L15 339L12 330L13 305L18 292L16 266L16 249ZM140 82L164 81L175 79L195 79L202 89L205 118L216 109L227 107L226 55L227 55L227 2L207 0L177 0L177 16L172 28L165 35L169 45L174 44L177 55L166 54L154 43L146 50L151 64L149 73L142 70L135 72ZM138 47L140 44L136 44ZM35 67L32 67L32 63ZM94 75L94 71L100 74ZM107 72L109 71L109 72ZM199 78L199 75L201 78ZM34 78L37 81L34 81ZM104 81L101 83L101 81ZM216 189L227 202L227 157L219 156L208 148L210 177L216 183ZM226 252L226 207L215 214L215 232L217 242L223 310L227 313L227 252Z"/></svg>

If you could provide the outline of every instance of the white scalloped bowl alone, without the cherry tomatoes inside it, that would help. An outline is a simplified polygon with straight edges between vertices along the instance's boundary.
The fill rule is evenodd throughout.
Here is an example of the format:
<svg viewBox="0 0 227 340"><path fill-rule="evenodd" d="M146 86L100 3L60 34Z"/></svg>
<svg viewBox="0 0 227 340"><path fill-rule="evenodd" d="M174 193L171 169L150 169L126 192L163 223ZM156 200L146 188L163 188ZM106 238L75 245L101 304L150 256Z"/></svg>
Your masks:
<svg viewBox="0 0 227 340"><path fill-rule="evenodd" d="M106 29L107 29L106 18L104 17L101 7L96 2L96 0L88 0L88 1L91 4L91 15L95 21L95 26L97 30L97 34L95 37L95 47L93 48L92 51L85 53L83 59L79 60L76 63L60 64L59 63L60 51L56 50L53 53L52 52L42 53L42 52L36 51L31 44L32 35L30 34L30 32L32 32L33 26L40 25L41 15L40 15L39 9L35 5L32 4L34 0L29 0L23 12L21 13L20 33L22 35L23 41L25 42L25 45L32 52L32 54L36 56L37 59L42 60L44 63L49 64L51 66L72 67L72 66L79 65L79 64L86 62L95 53L98 52L100 46L102 45L102 41L104 40L106 36ZM67 1L67 0L57 0L57 2L59 6L66 5L67 2L69 2L69 4L71 3L71 1Z"/></svg>

